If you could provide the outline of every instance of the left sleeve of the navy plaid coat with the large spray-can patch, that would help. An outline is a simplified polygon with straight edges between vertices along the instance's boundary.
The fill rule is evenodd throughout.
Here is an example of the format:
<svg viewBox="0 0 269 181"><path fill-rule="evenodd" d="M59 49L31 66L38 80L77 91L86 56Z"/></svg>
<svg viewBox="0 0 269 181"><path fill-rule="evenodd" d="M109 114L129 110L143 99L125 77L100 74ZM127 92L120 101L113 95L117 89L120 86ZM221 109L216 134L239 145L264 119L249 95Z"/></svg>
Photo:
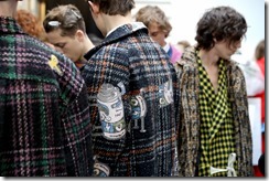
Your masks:
<svg viewBox="0 0 269 181"><path fill-rule="evenodd" d="M97 177L112 175L114 168L119 162L118 158L126 148L127 113L129 108L126 106L128 104L125 104L125 94L129 87L129 60L128 52L125 49L118 49L116 52L114 49L110 46L101 49L98 56L93 56L89 60L90 66L86 66L83 72L90 97L95 158L94 174ZM123 103L125 116L122 120L111 118L112 103L109 105L97 102L97 95L105 83L110 84L122 94L118 99Z"/></svg>

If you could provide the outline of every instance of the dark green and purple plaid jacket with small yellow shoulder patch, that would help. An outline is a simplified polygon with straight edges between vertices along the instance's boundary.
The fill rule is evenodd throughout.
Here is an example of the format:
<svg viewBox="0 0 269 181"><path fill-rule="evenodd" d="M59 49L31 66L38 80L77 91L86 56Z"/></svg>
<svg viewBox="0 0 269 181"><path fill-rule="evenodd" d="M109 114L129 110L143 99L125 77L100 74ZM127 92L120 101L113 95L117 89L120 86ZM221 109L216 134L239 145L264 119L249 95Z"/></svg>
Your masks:
<svg viewBox="0 0 269 181"><path fill-rule="evenodd" d="M90 175L86 98L69 60L0 17L0 175Z"/></svg>

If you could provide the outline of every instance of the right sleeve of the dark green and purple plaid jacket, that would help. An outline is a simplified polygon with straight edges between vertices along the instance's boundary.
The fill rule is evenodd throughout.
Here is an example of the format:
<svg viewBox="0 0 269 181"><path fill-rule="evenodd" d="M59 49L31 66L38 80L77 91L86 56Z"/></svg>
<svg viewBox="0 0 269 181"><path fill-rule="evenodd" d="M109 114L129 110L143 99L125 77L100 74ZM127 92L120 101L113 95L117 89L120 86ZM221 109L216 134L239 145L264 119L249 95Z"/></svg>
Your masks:
<svg viewBox="0 0 269 181"><path fill-rule="evenodd" d="M92 175L93 145L87 88L79 71L69 60L61 60L60 76L62 129L68 175Z"/></svg>

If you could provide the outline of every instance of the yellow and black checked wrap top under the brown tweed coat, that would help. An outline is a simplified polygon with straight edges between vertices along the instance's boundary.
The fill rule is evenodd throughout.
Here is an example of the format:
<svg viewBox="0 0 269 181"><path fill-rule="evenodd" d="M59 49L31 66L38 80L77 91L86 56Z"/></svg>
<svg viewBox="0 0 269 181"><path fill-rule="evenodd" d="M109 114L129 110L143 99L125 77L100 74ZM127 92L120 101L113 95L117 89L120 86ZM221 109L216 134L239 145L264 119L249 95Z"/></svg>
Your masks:
<svg viewBox="0 0 269 181"><path fill-rule="evenodd" d="M200 73L201 106L201 161L198 175L212 177L209 167L225 169L228 163L229 153L235 151L235 130L227 98L227 85L224 61L218 63L218 89L215 93L208 78L208 74L197 58ZM227 172L219 172L213 177L225 177Z"/></svg>

